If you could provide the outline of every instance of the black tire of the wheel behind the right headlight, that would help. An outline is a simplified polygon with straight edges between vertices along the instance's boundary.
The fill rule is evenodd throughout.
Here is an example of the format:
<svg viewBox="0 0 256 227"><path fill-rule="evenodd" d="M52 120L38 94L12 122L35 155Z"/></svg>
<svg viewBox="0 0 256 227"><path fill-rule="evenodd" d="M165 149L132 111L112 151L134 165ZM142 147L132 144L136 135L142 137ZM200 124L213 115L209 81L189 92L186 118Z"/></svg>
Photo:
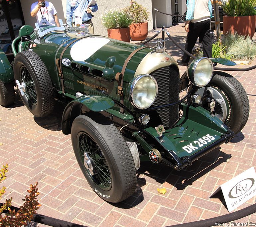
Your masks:
<svg viewBox="0 0 256 227"><path fill-rule="evenodd" d="M206 87L220 91L227 104L227 117L223 122L235 134L245 126L249 117L249 99L241 83L225 72L214 72L212 80Z"/></svg>

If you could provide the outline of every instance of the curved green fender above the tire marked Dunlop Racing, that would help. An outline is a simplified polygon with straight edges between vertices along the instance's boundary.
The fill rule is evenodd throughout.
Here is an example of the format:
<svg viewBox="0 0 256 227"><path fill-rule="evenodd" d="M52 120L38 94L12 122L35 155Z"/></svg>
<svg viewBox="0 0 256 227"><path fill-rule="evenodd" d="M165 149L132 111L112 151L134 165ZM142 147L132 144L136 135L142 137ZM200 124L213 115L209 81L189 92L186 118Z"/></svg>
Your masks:
<svg viewBox="0 0 256 227"><path fill-rule="evenodd" d="M81 115L83 107L87 111L100 112L114 106L114 101L108 97L84 95L74 99L64 109L62 115L62 132L65 135L70 134L73 120Z"/></svg>

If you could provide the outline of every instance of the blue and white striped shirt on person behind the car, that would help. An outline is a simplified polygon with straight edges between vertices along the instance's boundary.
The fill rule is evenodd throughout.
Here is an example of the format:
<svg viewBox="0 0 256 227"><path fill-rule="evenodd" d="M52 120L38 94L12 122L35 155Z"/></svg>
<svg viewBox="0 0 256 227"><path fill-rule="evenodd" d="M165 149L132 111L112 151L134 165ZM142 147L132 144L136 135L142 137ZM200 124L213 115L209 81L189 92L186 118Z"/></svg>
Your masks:
<svg viewBox="0 0 256 227"><path fill-rule="evenodd" d="M74 2L75 6L71 6L71 2ZM82 21L88 21L92 18L91 13L87 13L85 11L87 5L88 5L88 0L67 0L67 2L66 2L66 18L67 18L67 24L69 26L72 26L71 22L75 21L75 17L74 17L75 12L81 12ZM98 5L96 3L95 5L90 6L89 8L91 9L92 12L96 12L98 10Z"/></svg>

